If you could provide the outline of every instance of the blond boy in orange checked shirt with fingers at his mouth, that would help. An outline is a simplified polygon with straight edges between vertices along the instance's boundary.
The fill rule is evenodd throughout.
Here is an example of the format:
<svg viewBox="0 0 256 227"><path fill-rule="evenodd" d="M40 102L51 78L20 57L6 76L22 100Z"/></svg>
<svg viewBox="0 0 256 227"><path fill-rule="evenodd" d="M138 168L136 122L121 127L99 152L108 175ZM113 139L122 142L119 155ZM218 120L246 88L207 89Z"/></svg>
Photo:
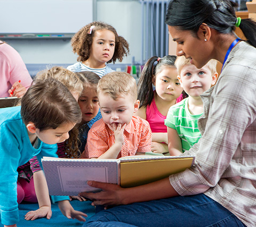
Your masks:
<svg viewBox="0 0 256 227"><path fill-rule="evenodd" d="M91 127L85 153L89 158L120 158L151 150L148 122L133 114L139 109L135 79L126 72L110 72L98 84L102 119Z"/></svg>

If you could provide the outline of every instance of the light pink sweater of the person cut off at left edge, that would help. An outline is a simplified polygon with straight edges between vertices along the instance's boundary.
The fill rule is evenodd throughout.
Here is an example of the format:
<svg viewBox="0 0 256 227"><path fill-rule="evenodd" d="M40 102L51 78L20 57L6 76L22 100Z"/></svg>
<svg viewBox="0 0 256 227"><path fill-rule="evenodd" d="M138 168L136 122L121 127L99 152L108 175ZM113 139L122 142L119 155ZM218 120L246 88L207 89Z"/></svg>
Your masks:
<svg viewBox="0 0 256 227"><path fill-rule="evenodd" d="M12 84L21 80L21 85L28 88L32 78L21 56L10 45L0 41L0 97L9 97Z"/></svg>

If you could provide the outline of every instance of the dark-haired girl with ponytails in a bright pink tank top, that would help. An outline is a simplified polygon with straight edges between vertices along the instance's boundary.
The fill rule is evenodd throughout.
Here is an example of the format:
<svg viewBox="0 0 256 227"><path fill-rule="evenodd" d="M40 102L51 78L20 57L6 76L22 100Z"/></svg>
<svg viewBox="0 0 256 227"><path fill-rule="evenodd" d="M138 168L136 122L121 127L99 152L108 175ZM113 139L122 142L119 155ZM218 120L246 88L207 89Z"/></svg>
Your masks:
<svg viewBox="0 0 256 227"><path fill-rule="evenodd" d="M136 115L146 119L150 125L151 151L154 153L169 153L164 119L169 108L177 102L179 96L182 96L183 91L174 66L176 58L171 55L163 58L153 56L146 62L138 83L140 109Z"/></svg>

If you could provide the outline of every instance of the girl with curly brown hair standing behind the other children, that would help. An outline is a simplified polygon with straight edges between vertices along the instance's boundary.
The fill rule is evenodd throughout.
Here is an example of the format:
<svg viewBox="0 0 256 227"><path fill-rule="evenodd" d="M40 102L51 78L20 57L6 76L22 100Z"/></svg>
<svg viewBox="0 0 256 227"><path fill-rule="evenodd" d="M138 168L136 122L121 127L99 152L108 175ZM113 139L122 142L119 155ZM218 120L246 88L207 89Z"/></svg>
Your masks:
<svg viewBox="0 0 256 227"><path fill-rule="evenodd" d="M106 63L120 62L130 53L129 44L107 23L94 21L81 28L71 39L77 63L68 66L73 72L93 71L102 77L112 70Z"/></svg>

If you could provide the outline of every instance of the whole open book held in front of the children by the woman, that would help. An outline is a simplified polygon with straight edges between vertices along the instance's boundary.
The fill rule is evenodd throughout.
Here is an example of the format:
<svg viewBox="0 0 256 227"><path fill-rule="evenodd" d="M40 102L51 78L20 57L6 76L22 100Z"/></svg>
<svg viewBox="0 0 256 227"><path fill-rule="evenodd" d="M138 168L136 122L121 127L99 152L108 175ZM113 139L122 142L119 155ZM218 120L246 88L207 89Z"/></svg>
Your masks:
<svg viewBox="0 0 256 227"><path fill-rule="evenodd" d="M194 156L128 156L119 159L44 157L42 165L51 196L97 192L87 181L134 187L163 179L194 164Z"/></svg>

